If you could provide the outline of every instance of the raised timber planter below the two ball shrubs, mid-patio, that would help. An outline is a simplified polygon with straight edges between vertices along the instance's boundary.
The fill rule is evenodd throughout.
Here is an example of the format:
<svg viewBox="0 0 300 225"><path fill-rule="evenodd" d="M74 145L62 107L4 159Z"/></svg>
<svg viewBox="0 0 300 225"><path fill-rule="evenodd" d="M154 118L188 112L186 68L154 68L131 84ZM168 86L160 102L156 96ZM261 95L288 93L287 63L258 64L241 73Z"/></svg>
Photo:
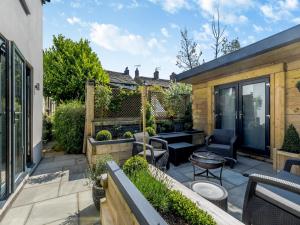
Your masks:
<svg viewBox="0 0 300 225"><path fill-rule="evenodd" d="M110 141L96 141L89 137L87 141L87 158L90 166L95 165L97 158L110 154L121 165L131 157L134 139L118 139Z"/></svg>

